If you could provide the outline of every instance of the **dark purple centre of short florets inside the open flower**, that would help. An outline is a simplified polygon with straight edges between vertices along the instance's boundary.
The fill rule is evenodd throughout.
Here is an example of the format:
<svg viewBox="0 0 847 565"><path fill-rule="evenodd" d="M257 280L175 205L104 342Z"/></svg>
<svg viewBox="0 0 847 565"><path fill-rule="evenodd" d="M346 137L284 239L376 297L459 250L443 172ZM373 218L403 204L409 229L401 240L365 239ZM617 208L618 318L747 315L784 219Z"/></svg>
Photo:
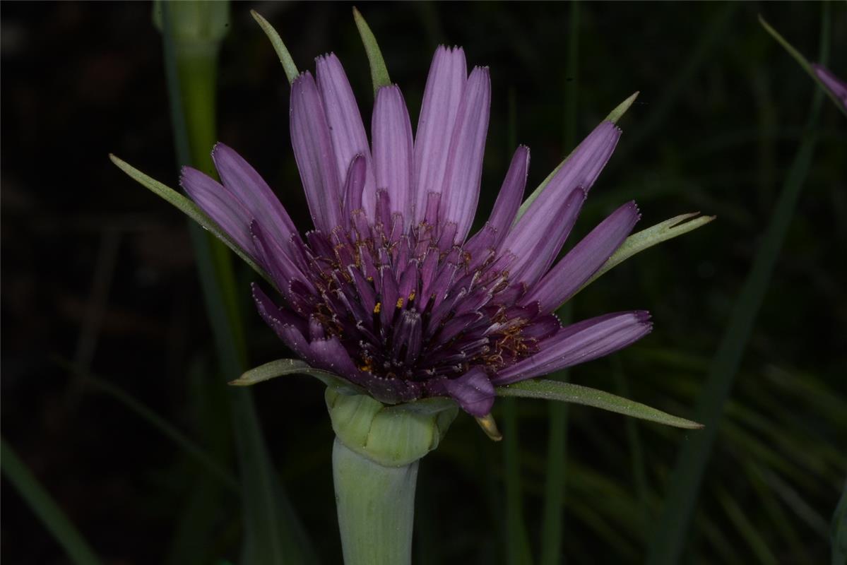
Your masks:
<svg viewBox="0 0 847 565"><path fill-rule="evenodd" d="M432 193L431 209L439 197ZM309 320L311 339L335 336L375 376L423 381L472 366L495 374L560 328L537 304L516 305L523 287L510 285L511 253L498 256L484 237L457 245L455 224L431 215L404 230L402 215L387 212L388 199L379 191L382 213L373 224L357 210L347 228L291 240L309 278L282 291Z"/></svg>

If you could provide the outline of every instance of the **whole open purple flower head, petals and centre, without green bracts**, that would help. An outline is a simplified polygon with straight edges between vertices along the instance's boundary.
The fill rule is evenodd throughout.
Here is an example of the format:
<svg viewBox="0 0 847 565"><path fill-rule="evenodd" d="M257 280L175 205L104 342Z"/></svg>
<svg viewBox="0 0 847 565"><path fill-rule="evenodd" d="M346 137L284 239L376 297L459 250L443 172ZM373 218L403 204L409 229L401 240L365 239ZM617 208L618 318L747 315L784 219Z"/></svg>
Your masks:
<svg viewBox="0 0 847 565"><path fill-rule="evenodd" d="M291 85L291 141L315 230L299 235L256 170L219 143L223 184L185 167L181 185L274 280L259 313L296 354L381 402L450 396L484 416L495 385L531 379L628 346L649 314L562 327L553 312L639 219L628 202L556 263L620 130L605 121L520 213L529 148L518 147L490 218L468 237L490 113L489 70L468 75L439 47L412 135L400 88L379 89L371 140L344 69L317 59Z"/></svg>

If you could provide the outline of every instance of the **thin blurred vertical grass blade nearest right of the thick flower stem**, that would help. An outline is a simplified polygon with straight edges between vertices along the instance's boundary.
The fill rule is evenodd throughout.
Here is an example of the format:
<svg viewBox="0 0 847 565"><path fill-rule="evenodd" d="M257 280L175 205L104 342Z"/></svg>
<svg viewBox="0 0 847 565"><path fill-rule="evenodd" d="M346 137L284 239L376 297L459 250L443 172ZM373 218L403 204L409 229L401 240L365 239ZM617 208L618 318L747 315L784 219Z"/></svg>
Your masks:
<svg viewBox="0 0 847 565"><path fill-rule="evenodd" d="M503 410L503 477L506 484L506 563L529 565L529 537L523 519L523 487L521 483L518 413L513 398L501 402Z"/></svg>

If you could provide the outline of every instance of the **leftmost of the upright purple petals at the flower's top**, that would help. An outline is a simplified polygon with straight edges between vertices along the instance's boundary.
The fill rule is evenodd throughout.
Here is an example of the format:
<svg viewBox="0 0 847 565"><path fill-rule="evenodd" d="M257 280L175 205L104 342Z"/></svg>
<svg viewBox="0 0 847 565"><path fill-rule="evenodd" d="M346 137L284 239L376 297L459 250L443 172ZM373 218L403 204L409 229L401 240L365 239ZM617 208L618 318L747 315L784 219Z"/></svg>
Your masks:
<svg viewBox="0 0 847 565"><path fill-rule="evenodd" d="M291 145L312 221L328 234L340 224L340 176L324 104L309 73L291 84ZM347 158L345 173L354 155Z"/></svg>

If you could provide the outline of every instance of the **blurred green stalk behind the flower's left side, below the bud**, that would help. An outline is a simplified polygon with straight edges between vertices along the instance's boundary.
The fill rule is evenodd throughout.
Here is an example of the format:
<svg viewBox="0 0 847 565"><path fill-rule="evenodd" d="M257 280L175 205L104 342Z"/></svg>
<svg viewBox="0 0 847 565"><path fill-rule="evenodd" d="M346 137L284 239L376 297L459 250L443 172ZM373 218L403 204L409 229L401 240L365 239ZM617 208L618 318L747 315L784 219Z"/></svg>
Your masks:
<svg viewBox="0 0 847 565"><path fill-rule="evenodd" d="M208 152L215 137L217 50L174 42L170 8L162 3L165 70L177 158L209 173ZM199 48L191 48L199 47ZM217 241L192 230L207 313L213 326L220 370L226 376L246 368L246 339L230 255ZM277 565L316 562L305 530L271 463L249 391L230 393L235 448L244 510L242 562Z"/></svg>

